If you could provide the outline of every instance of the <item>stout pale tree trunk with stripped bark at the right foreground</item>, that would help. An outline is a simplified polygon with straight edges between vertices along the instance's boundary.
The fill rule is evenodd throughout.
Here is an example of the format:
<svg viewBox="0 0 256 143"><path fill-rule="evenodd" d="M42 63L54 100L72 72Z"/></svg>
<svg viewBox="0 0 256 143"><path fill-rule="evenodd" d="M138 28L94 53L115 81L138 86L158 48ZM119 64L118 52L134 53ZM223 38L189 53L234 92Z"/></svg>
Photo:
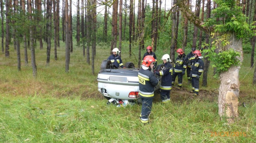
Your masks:
<svg viewBox="0 0 256 143"><path fill-rule="evenodd" d="M237 39L233 33L230 33L230 44L227 45L227 50L232 48L241 53L241 57L237 57L240 62L243 61L242 40ZM238 117L238 97L239 97L239 66L232 66L228 71L220 74L220 88L218 96L219 115L227 116L228 122L234 122Z"/></svg>

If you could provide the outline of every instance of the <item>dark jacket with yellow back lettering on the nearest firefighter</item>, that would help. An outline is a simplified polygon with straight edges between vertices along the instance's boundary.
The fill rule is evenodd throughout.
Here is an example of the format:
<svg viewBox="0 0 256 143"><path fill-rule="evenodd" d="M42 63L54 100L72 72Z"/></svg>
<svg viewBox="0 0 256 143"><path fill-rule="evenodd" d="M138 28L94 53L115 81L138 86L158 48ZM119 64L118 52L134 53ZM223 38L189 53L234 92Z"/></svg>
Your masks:
<svg viewBox="0 0 256 143"><path fill-rule="evenodd" d="M146 99L154 98L154 87L157 86L159 80L154 76L154 74L149 69L143 70L141 68L139 70L138 77L139 96Z"/></svg>

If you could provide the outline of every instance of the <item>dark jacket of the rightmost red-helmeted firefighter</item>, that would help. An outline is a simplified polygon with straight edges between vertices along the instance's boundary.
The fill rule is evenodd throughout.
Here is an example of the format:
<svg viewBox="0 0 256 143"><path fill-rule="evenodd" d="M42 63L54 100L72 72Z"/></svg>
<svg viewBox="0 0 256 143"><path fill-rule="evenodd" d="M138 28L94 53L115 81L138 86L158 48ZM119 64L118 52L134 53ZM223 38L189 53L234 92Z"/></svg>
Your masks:
<svg viewBox="0 0 256 143"><path fill-rule="evenodd" d="M197 75L201 76L201 74L203 73L203 67L203 60L200 58L195 59L191 65L190 77L197 77Z"/></svg>

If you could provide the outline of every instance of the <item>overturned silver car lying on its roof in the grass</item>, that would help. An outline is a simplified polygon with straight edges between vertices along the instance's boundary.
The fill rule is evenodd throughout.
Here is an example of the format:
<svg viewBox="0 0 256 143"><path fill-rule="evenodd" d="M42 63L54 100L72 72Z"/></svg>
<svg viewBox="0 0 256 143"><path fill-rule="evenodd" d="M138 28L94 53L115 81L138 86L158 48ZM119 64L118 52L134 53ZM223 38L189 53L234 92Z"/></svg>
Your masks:
<svg viewBox="0 0 256 143"><path fill-rule="evenodd" d="M106 99L121 99L129 102L142 103L139 97L139 69L132 62L124 65L126 68L116 68L110 60L104 60L98 73L98 90ZM156 70L162 70L163 65L157 65ZM155 91L160 88L161 76L157 76L160 83Z"/></svg>

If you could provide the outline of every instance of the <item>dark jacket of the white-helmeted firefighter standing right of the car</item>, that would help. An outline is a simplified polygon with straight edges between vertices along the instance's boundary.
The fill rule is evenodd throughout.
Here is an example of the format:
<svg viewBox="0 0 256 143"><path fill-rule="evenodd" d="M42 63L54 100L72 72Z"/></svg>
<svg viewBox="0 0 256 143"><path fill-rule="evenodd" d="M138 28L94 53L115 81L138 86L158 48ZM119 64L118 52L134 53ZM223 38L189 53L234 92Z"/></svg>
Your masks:
<svg viewBox="0 0 256 143"><path fill-rule="evenodd" d="M156 71L156 75L162 76L161 90L170 91L172 89L172 64L167 62L163 65L162 71Z"/></svg>

